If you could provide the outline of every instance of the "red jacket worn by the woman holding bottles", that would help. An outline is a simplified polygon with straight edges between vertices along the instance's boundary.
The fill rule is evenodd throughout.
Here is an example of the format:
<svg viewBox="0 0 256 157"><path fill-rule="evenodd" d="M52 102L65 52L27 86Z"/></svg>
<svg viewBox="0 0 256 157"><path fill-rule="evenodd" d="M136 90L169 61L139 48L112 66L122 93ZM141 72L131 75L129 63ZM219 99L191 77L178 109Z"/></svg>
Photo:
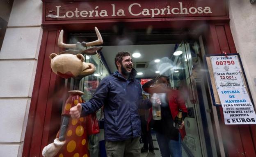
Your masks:
<svg viewBox="0 0 256 157"><path fill-rule="evenodd" d="M143 88L145 92L153 94L153 93L167 93L168 97L168 103L169 103L169 108L171 111L171 116L172 119L176 117L178 114L179 108L182 109L183 112L187 113L187 108L185 106L185 102L183 98L181 97L181 93L178 90L173 90L170 88L164 88L160 85L156 85L154 87L149 87L149 88ZM150 108L149 111L149 118L148 118L148 129L149 129L149 122L152 119L152 108ZM182 129L179 129L179 132L181 133L181 138L183 139L186 135L185 132L185 126L183 126Z"/></svg>

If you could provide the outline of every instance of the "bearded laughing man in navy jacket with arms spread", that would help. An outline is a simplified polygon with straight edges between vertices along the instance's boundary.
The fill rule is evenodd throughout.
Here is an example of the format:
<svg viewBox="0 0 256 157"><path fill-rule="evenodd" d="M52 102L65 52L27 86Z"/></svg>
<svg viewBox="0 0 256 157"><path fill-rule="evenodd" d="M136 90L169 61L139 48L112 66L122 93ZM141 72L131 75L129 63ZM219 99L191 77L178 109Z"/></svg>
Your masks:
<svg viewBox="0 0 256 157"><path fill-rule="evenodd" d="M140 82L128 52L115 57L117 70L103 78L91 100L70 109L72 118L96 112L104 105L104 133L107 157L139 157L141 122L139 108L150 108L149 99L142 99ZM156 100L161 104L160 100Z"/></svg>

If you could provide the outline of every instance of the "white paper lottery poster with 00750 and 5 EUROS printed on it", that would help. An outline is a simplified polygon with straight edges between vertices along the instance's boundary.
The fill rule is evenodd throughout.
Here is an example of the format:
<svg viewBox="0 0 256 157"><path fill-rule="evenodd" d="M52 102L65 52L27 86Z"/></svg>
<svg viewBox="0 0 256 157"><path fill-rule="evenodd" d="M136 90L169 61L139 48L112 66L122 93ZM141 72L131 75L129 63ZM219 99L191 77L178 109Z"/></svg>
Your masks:
<svg viewBox="0 0 256 157"><path fill-rule="evenodd" d="M210 61L225 124L256 124L238 55L211 56Z"/></svg>

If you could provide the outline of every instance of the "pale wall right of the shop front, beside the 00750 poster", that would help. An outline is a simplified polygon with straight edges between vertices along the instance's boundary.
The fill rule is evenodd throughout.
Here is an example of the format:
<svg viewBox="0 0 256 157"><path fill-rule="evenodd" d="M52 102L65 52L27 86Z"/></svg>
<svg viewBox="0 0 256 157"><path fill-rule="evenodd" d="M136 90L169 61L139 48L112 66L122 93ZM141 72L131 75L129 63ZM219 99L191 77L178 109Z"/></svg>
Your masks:
<svg viewBox="0 0 256 157"><path fill-rule="evenodd" d="M241 56L251 95L256 103L256 4L249 0L228 0L230 27Z"/></svg>

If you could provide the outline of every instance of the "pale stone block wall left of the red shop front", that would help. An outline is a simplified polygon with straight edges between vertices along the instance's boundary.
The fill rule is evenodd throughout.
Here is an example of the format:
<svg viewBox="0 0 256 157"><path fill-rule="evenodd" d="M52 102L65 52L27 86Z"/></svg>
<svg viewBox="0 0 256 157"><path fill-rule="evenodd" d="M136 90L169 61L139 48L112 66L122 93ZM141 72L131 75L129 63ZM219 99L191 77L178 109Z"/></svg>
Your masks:
<svg viewBox="0 0 256 157"><path fill-rule="evenodd" d="M41 23L41 0L14 0L0 51L0 157L22 155Z"/></svg>

